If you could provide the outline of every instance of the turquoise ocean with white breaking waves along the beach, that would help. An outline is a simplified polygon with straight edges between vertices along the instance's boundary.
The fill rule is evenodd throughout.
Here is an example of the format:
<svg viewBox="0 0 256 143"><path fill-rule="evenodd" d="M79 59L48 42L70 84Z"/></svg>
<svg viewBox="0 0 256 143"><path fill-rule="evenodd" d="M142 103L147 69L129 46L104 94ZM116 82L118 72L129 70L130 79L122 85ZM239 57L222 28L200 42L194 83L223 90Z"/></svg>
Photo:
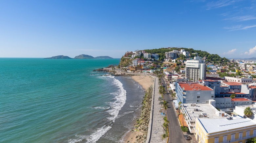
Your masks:
<svg viewBox="0 0 256 143"><path fill-rule="evenodd" d="M120 143L144 91L120 59L0 58L0 142Z"/></svg>

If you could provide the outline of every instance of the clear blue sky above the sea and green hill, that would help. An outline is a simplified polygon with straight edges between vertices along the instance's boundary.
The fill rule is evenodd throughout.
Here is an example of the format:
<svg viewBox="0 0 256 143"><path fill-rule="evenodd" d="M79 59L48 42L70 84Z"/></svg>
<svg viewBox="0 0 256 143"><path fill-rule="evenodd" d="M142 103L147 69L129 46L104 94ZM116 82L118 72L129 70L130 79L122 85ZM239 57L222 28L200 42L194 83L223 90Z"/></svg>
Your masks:
<svg viewBox="0 0 256 143"><path fill-rule="evenodd" d="M256 0L1 0L0 57L185 47L256 57Z"/></svg>

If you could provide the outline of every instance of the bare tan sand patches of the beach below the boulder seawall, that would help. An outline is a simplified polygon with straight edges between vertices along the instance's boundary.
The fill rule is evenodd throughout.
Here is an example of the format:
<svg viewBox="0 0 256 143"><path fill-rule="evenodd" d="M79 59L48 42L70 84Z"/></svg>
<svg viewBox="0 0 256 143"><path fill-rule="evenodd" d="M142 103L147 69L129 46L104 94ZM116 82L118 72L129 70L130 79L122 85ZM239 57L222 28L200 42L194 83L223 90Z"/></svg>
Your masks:
<svg viewBox="0 0 256 143"><path fill-rule="evenodd" d="M143 88L143 90L146 90L148 87L150 87L154 83L154 78L148 75L134 75L132 76L132 79L138 82L139 85L141 85L141 87ZM135 122L136 120L134 121L133 125L135 124ZM133 130L135 130L135 128ZM136 131L136 132L130 131L125 135L122 142L135 143L137 139L136 136L142 135L142 134L143 133L139 131Z"/></svg>

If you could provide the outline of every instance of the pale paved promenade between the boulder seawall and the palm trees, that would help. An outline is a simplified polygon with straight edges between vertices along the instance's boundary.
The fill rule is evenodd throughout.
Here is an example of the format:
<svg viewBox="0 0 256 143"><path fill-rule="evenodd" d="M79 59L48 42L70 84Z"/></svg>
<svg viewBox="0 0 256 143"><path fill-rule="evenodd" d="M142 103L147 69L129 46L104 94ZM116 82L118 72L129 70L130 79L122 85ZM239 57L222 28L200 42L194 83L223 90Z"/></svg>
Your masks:
<svg viewBox="0 0 256 143"><path fill-rule="evenodd" d="M159 94L158 78L155 77L155 90L152 99L153 101L153 121L152 121L152 132L150 143L166 143L167 138L162 139L162 135L165 134L163 130L163 117L161 116L161 105L159 104L158 98L161 97Z"/></svg>

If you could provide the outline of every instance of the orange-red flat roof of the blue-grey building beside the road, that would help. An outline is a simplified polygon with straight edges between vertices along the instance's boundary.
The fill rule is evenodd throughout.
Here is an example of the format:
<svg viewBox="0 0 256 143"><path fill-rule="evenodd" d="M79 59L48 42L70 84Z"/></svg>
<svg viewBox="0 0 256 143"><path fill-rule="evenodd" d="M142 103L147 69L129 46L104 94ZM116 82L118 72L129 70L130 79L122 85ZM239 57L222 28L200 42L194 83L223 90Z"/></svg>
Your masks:
<svg viewBox="0 0 256 143"><path fill-rule="evenodd" d="M207 86L203 86L199 83L181 83L179 82L179 85L181 86L181 88L184 90L188 91L188 90L213 90L210 87Z"/></svg>

